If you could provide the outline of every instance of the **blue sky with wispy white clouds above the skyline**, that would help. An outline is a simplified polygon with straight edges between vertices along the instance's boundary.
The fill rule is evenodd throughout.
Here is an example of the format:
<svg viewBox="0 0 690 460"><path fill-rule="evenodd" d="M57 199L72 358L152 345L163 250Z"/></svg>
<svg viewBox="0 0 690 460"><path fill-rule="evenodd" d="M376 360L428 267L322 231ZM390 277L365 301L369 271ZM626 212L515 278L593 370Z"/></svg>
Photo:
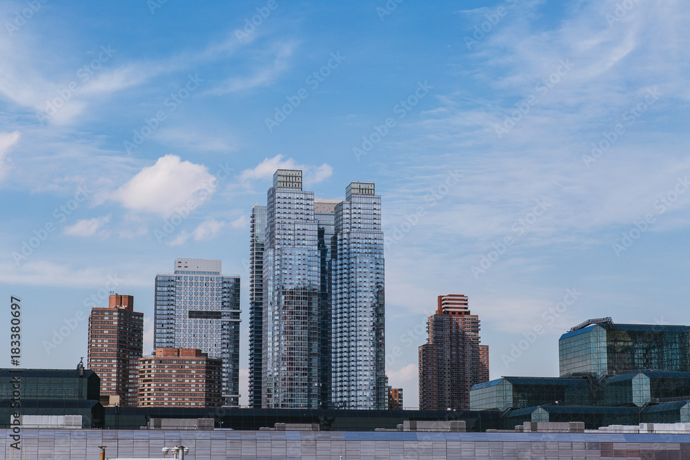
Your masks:
<svg viewBox="0 0 690 460"><path fill-rule="evenodd" d="M279 167L321 198L375 182L405 406L440 294L469 296L492 378L558 374L588 318L689 323L687 2L34 0L0 19L0 299L6 332L22 300L23 366L76 366L111 288L150 352L157 272L222 259L246 402L248 218Z"/></svg>

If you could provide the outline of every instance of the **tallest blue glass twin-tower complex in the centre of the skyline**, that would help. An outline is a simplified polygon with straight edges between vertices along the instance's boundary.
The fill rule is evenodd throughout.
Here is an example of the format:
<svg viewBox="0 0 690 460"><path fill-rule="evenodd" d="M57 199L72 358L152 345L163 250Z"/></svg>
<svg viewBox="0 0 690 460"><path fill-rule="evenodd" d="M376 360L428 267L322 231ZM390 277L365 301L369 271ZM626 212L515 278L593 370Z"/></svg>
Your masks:
<svg viewBox="0 0 690 460"><path fill-rule="evenodd" d="M314 199L277 170L250 244L250 406L385 409L381 197Z"/></svg>

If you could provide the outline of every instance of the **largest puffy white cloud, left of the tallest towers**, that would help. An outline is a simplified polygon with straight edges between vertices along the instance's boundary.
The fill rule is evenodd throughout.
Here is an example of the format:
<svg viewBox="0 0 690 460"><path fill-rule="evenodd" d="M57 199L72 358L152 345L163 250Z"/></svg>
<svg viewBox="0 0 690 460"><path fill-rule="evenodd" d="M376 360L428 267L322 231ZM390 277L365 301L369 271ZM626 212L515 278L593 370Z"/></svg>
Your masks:
<svg viewBox="0 0 690 460"><path fill-rule="evenodd" d="M166 155L142 169L111 198L130 210L164 218L177 212L184 217L213 193L213 180L206 166Z"/></svg>

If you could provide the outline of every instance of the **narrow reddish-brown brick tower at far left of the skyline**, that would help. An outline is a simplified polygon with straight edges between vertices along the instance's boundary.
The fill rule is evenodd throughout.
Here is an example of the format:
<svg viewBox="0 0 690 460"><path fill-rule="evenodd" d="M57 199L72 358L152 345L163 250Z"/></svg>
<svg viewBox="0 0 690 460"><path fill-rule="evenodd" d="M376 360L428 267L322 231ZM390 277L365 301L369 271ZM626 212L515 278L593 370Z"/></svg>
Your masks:
<svg viewBox="0 0 690 460"><path fill-rule="evenodd" d="M141 357L143 345L144 313L134 311L133 296L112 294L107 308L91 309L87 365L101 379L106 405L136 405L130 361Z"/></svg>

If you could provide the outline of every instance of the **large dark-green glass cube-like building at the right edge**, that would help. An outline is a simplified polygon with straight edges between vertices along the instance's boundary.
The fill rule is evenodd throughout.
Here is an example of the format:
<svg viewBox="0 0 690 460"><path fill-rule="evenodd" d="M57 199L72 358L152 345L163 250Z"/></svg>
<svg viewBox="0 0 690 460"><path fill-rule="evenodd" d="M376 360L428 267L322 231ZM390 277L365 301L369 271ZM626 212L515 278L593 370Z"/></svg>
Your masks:
<svg viewBox="0 0 690 460"><path fill-rule="evenodd" d="M690 371L690 326L588 319L558 340L560 374L655 369Z"/></svg>

